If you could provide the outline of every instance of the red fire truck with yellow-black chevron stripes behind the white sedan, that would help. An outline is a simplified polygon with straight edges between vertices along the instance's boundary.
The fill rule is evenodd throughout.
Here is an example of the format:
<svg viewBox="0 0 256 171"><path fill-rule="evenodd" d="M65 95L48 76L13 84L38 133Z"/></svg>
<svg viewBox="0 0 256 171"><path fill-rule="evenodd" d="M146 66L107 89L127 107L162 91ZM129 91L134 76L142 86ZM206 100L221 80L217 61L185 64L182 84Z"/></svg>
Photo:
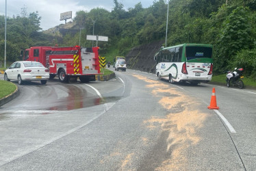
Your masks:
<svg viewBox="0 0 256 171"><path fill-rule="evenodd" d="M31 47L22 51L23 60L41 62L49 68L50 79L58 75L60 82L80 79L82 83L95 81L101 73L99 47Z"/></svg>

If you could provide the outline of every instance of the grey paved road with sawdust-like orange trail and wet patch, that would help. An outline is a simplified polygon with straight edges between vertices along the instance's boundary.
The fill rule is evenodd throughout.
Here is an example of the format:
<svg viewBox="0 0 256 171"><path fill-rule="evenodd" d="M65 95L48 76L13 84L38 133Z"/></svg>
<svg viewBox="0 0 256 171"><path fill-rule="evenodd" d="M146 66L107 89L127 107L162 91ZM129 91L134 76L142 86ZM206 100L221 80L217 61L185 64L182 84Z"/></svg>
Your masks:
<svg viewBox="0 0 256 171"><path fill-rule="evenodd" d="M19 86L0 108L0 170L256 170L255 90L116 76Z"/></svg>

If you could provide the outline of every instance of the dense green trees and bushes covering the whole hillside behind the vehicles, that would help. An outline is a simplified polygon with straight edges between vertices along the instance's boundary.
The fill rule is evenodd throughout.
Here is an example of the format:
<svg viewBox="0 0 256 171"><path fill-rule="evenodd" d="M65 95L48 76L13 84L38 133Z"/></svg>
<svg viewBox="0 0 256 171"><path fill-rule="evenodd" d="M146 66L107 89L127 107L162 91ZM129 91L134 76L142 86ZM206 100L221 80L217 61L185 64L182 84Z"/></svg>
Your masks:
<svg viewBox="0 0 256 171"><path fill-rule="evenodd" d="M167 45L203 43L214 45L214 73L241 66L246 75L256 75L253 62L256 44L256 0L172 0L169 1ZM154 0L149 8L137 3L125 10L113 0L113 10L94 8L79 11L73 20L76 34L51 36L40 32L38 12L8 18L8 60L16 60L20 50L31 46L91 47L86 35L108 36L98 42L100 54L112 61L116 55L127 55L141 44L164 40L166 36L167 1ZM0 60L3 60L5 18L0 16ZM80 36L81 29L81 36ZM93 42L96 45L96 42ZM165 45L165 44L163 44Z"/></svg>

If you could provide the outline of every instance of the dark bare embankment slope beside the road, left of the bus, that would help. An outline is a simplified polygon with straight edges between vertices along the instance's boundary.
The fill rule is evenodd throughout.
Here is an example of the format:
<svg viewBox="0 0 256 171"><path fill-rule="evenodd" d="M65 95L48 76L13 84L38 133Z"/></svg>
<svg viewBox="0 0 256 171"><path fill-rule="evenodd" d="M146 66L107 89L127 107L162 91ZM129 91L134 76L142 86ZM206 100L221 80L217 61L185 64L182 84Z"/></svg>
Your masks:
<svg viewBox="0 0 256 171"><path fill-rule="evenodd" d="M161 49L163 43L164 41L157 41L134 47L125 57L127 67L133 70L155 73L154 55Z"/></svg>

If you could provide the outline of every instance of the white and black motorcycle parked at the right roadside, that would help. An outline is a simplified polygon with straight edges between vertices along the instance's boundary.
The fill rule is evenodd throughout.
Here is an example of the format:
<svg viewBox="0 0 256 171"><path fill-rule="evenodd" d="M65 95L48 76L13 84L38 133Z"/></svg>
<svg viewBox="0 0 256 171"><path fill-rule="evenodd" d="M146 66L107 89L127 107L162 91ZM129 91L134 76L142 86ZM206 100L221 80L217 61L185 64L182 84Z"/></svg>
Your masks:
<svg viewBox="0 0 256 171"><path fill-rule="evenodd" d="M244 76L242 75L244 69L243 68L235 68L235 70L231 73L230 71L227 72L226 75L226 82L227 87L229 86L238 86L238 88L244 88L244 82L242 79L244 79Z"/></svg>

